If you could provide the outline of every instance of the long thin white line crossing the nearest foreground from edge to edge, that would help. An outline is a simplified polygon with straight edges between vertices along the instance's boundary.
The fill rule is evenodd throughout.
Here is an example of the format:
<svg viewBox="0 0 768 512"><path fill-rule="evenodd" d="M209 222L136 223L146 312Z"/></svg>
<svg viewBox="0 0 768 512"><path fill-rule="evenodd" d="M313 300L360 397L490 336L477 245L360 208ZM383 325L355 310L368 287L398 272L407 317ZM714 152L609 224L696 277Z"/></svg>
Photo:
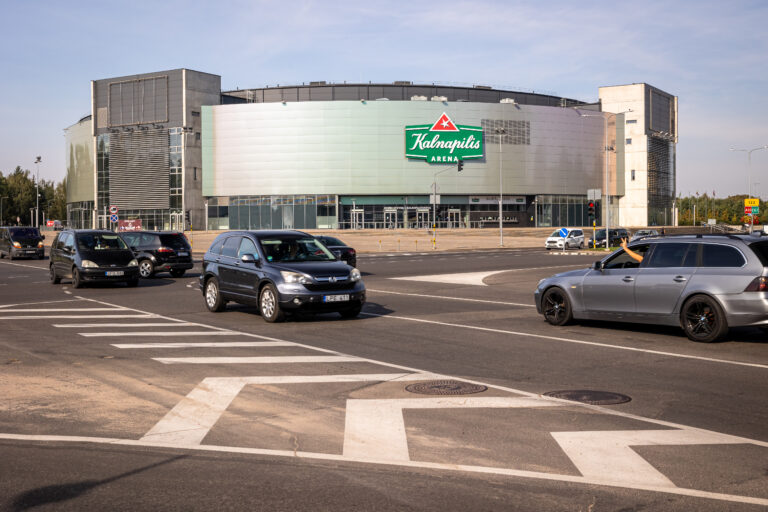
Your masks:
<svg viewBox="0 0 768 512"><path fill-rule="evenodd" d="M682 487L653 487L645 485L618 484L614 481L602 481L576 475L559 475L554 473L542 473L537 471L524 471L519 469L492 468L486 466L469 466L463 464L443 464L439 462L417 461L393 461L375 459L356 459L332 453L302 452L293 450L270 450L266 448L245 448L241 446L212 446L212 445L178 445L174 443L161 443L134 439L118 439L110 437L84 437L84 436L52 436L52 435L26 435L26 434L0 434L0 439L12 441L39 442L39 443L91 443L117 446L136 446L142 448L167 448L211 453L236 453L244 455L260 455L269 457L287 457L307 460L322 460L335 462L349 462L359 464L379 464L404 468L430 469L440 471L455 471L475 473L480 475L498 475L514 478L531 478L550 482L569 482L582 485L600 485L616 487L620 489L633 489L638 491L657 492L671 496L688 496L691 498L703 498L732 503L746 503L768 506L768 499L752 496L739 496L718 492L702 491L699 489L686 489Z"/></svg>

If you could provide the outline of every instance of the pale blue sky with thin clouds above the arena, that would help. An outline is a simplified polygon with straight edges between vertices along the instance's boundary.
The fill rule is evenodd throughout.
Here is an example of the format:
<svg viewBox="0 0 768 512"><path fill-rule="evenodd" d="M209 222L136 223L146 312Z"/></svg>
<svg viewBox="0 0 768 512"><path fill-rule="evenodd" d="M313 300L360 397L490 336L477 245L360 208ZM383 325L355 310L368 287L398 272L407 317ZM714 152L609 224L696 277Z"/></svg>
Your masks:
<svg viewBox="0 0 768 512"><path fill-rule="evenodd" d="M0 171L61 180L89 81L186 67L222 87L433 81L596 101L647 82L679 97L677 188L744 193L768 144L768 2L0 0ZM768 150L752 154L768 197Z"/></svg>

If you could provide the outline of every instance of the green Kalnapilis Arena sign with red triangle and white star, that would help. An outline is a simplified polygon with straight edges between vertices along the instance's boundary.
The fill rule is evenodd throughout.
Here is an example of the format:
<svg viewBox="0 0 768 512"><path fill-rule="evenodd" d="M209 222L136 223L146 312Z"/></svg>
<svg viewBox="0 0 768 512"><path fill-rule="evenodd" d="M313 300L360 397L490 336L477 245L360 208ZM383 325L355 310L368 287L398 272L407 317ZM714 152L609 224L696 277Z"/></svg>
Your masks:
<svg viewBox="0 0 768 512"><path fill-rule="evenodd" d="M454 124L443 112L435 124L405 127L405 156L429 163L483 158L483 129Z"/></svg>

